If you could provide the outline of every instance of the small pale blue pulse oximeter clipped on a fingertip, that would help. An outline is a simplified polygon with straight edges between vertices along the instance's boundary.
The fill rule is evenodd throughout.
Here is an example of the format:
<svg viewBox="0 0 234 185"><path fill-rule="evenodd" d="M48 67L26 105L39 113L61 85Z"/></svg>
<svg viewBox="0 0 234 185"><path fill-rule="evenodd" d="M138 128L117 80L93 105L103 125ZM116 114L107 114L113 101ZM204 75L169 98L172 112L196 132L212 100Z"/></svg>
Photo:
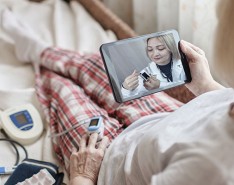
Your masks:
<svg viewBox="0 0 234 185"><path fill-rule="evenodd" d="M101 116L93 117L88 125L89 134L98 133L98 140L103 138L104 125L103 118Z"/></svg>

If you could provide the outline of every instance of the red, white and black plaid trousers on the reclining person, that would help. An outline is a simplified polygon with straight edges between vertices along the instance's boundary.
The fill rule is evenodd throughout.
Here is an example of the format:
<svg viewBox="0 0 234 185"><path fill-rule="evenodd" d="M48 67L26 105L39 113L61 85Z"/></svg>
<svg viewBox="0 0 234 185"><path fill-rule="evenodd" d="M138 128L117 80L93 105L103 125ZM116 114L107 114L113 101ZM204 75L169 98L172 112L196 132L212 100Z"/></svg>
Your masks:
<svg viewBox="0 0 234 185"><path fill-rule="evenodd" d="M115 102L99 54L81 55L48 48L41 59L36 90L52 134L78 125L52 140L56 154L66 167L72 148L79 148L89 118L103 116L104 134L112 140L142 116L171 112L182 105L163 92L122 104Z"/></svg>

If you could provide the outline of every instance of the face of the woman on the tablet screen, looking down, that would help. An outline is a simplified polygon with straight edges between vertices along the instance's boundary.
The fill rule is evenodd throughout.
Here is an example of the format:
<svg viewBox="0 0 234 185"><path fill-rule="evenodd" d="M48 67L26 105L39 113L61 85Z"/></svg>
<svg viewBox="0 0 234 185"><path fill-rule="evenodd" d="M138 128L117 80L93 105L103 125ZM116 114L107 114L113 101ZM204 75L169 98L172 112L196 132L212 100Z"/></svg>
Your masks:
<svg viewBox="0 0 234 185"><path fill-rule="evenodd" d="M157 37L148 40L147 53L150 60L158 65L166 65L171 61L171 52Z"/></svg>

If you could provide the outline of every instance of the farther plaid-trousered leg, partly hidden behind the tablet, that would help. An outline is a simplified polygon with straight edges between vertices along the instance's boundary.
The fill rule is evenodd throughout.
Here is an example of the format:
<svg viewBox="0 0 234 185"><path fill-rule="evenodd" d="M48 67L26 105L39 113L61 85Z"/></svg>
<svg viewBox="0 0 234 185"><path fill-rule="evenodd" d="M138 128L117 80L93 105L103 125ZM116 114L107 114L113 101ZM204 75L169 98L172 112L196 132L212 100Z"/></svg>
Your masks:
<svg viewBox="0 0 234 185"><path fill-rule="evenodd" d="M163 92L122 104L116 103L99 54L80 55L59 48L48 48L41 59L42 66L72 79L109 116L117 118L125 127L142 116L172 112L182 105Z"/></svg>

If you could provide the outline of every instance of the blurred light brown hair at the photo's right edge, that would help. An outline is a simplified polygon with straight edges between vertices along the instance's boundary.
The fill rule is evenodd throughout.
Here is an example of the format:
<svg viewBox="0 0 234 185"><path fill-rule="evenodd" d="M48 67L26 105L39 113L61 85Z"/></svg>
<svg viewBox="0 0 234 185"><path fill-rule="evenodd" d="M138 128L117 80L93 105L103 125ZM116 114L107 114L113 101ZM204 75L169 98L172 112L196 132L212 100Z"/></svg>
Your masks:
<svg viewBox="0 0 234 185"><path fill-rule="evenodd" d="M220 0L217 4L218 24L215 33L214 67L221 83L234 87L234 1Z"/></svg>

